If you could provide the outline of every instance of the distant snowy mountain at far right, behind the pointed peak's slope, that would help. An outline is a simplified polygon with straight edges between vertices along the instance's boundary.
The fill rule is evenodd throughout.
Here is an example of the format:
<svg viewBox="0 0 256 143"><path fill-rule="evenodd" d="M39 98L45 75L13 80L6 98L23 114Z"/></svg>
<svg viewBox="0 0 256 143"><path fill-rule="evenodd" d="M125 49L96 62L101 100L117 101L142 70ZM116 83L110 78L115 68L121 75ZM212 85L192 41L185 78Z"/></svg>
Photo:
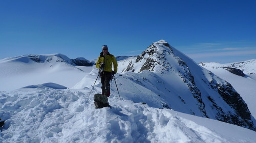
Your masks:
<svg viewBox="0 0 256 143"><path fill-rule="evenodd" d="M256 117L256 60L236 63L199 63L202 67L228 81L248 104L253 117ZM232 70L230 70L232 69Z"/></svg>

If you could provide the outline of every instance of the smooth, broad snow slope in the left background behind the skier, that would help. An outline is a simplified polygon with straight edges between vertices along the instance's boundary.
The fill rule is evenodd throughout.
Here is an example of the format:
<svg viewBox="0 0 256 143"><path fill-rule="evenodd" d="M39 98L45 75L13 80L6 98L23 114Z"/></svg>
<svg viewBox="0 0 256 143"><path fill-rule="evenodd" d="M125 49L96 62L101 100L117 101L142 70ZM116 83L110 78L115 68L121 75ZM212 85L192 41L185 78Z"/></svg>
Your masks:
<svg viewBox="0 0 256 143"><path fill-rule="evenodd" d="M63 54L23 55L0 60L0 91L54 82L71 88L86 72ZM90 68L91 69L91 68Z"/></svg>

